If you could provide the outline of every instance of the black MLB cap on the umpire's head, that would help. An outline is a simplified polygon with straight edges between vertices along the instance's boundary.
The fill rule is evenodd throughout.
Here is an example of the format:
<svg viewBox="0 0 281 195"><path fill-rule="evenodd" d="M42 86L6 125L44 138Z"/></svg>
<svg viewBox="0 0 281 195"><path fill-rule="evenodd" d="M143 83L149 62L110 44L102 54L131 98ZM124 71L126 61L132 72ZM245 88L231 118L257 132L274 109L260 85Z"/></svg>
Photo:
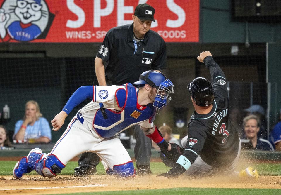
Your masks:
<svg viewBox="0 0 281 195"><path fill-rule="evenodd" d="M140 20L151 20L155 22L154 20L154 13L155 9L148 5L148 4L138 4L135 9L135 16L138 16Z"/></svg>

